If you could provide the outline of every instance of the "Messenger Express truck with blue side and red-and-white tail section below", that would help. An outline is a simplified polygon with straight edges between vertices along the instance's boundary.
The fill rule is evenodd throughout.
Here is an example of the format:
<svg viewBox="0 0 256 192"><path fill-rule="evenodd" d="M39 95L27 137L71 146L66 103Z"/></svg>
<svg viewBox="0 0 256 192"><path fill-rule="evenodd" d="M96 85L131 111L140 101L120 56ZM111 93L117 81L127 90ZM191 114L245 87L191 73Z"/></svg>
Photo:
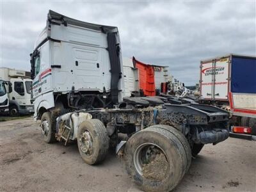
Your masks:
<svg viewBox="0 0 256 192"><path fill-rule="evenodd" d="M200 102L229 109L230 136L256 136L256 56L228 54L201 61Z"/></svg>

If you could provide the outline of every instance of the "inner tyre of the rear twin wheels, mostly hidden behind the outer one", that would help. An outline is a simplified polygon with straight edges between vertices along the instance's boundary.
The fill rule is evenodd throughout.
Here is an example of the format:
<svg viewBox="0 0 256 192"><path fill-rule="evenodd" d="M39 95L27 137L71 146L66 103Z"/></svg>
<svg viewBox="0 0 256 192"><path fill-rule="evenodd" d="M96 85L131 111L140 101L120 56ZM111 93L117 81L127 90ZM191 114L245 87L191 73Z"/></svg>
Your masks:
<svg viewBox="0 0 256 192"><path fill-rule="evenodd" d="M190 145L188 143L187 138L184 136L184 134L182 134L182 132L180 132L179 130L175 129L174 127L172 127L170 125L153 125L152 127L165 129L165 130L171 132L180 141L180 143L182 144L182 146L186 152L186 159L187 159L186 172L188 172L189 167L191 165L192 155L191 155Z"/></svg>

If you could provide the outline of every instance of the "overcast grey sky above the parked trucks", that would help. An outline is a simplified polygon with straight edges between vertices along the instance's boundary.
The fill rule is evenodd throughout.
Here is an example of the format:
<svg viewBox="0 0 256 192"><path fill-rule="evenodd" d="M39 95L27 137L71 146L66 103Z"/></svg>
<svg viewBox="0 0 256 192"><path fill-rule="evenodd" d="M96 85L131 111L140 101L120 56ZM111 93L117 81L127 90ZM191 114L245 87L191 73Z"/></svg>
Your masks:
<svg viewBox="0 0 256 192"><path fill-rule="evenodd" d="M49 9L74 19L118 26L122 53L168 65L186 85L200 60L230 52L256 55L255 1L3 1L0 66L30 70L29 53Z"/></svg>

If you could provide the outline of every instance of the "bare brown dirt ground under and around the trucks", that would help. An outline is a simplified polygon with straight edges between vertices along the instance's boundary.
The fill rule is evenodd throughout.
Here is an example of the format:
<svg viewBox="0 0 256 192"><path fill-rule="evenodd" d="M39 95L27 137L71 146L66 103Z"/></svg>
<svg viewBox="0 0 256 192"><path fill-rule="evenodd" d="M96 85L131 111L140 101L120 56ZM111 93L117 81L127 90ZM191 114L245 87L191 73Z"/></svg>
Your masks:
<svg viewBox="0 0 256 192"><path fill-rule="evenodd" d="M0 191L140 191L109 152L90 166L76 143L46 144L32 118L0 122ZM175 191L256 191L256 142L206 145Z"/></svg>

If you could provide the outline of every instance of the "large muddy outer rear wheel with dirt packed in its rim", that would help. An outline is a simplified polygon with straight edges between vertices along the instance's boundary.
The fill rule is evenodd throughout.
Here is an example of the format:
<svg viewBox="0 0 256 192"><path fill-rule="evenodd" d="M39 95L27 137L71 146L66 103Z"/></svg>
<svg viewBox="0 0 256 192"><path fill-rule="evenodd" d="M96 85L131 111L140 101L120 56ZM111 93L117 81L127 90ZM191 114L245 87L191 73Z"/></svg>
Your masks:
<svg viewBox="0 0 256 192"><path fill-rule="evenodd" d="M125 145L126 170L143 191L170 191L186 172L182 143L169 131L148 127L129 138Z"/></svg>

